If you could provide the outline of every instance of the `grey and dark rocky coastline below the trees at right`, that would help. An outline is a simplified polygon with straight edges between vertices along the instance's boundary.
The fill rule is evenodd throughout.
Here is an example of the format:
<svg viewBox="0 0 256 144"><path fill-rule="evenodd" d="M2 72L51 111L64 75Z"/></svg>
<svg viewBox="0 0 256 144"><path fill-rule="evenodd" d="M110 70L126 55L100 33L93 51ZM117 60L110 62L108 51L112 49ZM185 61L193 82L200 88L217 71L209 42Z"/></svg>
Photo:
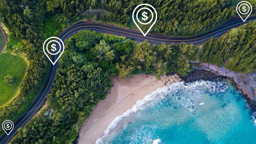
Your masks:
<svg viewBox="0 0 256 144"><path fill-rule="evenodd" d="M218 78L230 79L236 88L243 93L247 106L253 113L256 121L256 72L245 75L242 72L234 72L225 68L225 63L221 68L214 64L202 63L199 61L190 62L194 71L186 77L181 77L185 82L196 80L216 80Z"/></svg>

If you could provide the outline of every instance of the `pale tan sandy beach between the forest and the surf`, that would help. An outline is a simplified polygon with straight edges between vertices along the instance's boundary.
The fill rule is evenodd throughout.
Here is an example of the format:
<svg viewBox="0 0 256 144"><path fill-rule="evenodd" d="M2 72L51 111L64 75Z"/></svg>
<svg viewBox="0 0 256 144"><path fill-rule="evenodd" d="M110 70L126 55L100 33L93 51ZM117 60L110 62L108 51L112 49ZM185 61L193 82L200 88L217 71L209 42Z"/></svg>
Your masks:
<svg viewBox="0 0 256 144"><path fill-rule="evenodd" d="M116 116L131 109L138 100L157 88L180 81L180 78L173 75L162 76L160 80L156 80L155 76L143 74L130 78L111 77L111 80L114 86L108 92L107 98L100 100L89 118L84 120L84 126L79 132L79 144L94 144L98 138L104 136L104 131Z"/></svg>

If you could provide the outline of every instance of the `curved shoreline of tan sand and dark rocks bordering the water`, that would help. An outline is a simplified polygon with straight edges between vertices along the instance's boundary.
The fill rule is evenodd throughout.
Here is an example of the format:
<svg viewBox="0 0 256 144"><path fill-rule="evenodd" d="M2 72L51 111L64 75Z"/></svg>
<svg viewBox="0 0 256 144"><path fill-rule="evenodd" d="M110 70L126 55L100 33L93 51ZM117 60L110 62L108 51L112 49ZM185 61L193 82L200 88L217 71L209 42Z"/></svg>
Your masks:
<svg viewBox="0 0 256 144"><path fill-rule="evenodd" d="M195 63L199 63L199 62L194 62L194 64ZM225 71L224 74L222 73L223 70ZM232 76L230 76L231 74L232 74ZM123 113L125 113L128 109L131 109L132 106L135 105L138 100L144 99L145 96L156 91L156 88L164 87L166 85L169 85L169 84L181 81L181 80L184 81L185 83L189 83L189 82L194 82L197 80L214 81L219 78L224 79L224 80L230 79L234 83L234 86L243 93L244 100L246 101L248 108L252 112L252 116L254 117L254 119L256 119L256 102L252 99L254 96L253 92L252 92L251 97L249 97L248 89L239 85L239 83L236 81L237 79L239 79L239 76L244 76L244 74L242 74L240 72L239 75L237 76L235 72L229 71L223 67L218 69L217 66L212 65L212 64L199 63L198 67L194 67L194 71L189 73L188 76L182 77L182 76L177 76L175 74L175 75L169 76L169 79L171 79L171 77L172 77L172 80L170 80L170 81L168 79L168 76L162 76L161 80L156 80L155 76L145 75L145 74L134 75L133 77L123 78L123 79L118 78L118 77L111 77L111 80L113 81L114 86L109 91L107 98L109 98L109 100L110 100L113 98L113 95L115 95L114 98L116 98L116 100L115 100L116 106L109 111L108 104L110 101L109 100L100 100L99 104L93 109L92 115L90 115L89 118L84 120L85 125L80 128L78 143L95 143L98 138L102 138L104 136L104 134L105 134L104 132L105 132L105 130L107 130L109 124L117 116L123 115ZM249 76L251 76L251 75L249 75ZM167 77L167 79L166 79L166 77ZM141 78L143 80L142 83L139 82L141 80ZM174 81L173 81L173 79L174 79ZM247 80L247 79L248 79L248 76L246 75L244 80ZM142 86L142 88L137 88L137 90L133 91L134 88L136 89L134 82L139 84L139 86L142 86L143 84L144 85L146 84L146 85L144 87ZM149 83L147 84L145 82L147 82L147 83L149 82ZM168 83L166 84L165 82L168 82ZM169 83L169 82L171 82L171 83ZM126 83L125 86L122 83ZM155 83L156 83L156 85L155 85ZM146 92L145 92L145 89L143 89L145 87L148 87L148 91L146 91ZM155 89L153 87L155 87ZM143 90L141 91L141 89L143 89L144 91ZM118 92L118 90L119 90L119 92ZM132 91L132 93L130 93L130 94L126 93L128 95L126 97L124 97L122 95L122 93L120 93L121 91L123 91L123 92ZM116 93L113 93L113 92L116 92ZM131 96L131 95L134 95L135 93L137 93L137 95L139 95L139 96L137 96L137 97ZM110 97L112 97L112 98L110 98ZM122 99L122 97L123 97L123 99ZM124 100L126 98L131 98L131 100ZM120 104L122 105L122 103L121 102L117 103L118 99L120 99L120 100L122 99L121 101L124 100L123 103L125 103L125 105L120 107ZM118 110L117 113L115 113L115 116L111 115L111 113L113 113L115 111L114 109L118 108L118 107L121 108L122 112ZM109 116L109 114L110 114L110 116ZM106 117L108 117L108 121L103 120L103 119L106 119ZM102 128L102 125L104 128Z"/></svg>

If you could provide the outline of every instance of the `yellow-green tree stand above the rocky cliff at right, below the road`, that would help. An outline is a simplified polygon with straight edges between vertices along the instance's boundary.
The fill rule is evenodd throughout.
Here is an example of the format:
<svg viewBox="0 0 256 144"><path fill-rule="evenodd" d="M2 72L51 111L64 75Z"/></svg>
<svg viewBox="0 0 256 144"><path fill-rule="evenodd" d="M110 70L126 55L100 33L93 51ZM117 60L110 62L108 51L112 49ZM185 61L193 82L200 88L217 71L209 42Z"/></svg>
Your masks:
<svg viewBox="0 0 256 144"><path fill-rule="evenodd" d="M198 59L227 69L243 72L256 71L256 22L232 29L220 39L212 38L204 43Z"/></svg>

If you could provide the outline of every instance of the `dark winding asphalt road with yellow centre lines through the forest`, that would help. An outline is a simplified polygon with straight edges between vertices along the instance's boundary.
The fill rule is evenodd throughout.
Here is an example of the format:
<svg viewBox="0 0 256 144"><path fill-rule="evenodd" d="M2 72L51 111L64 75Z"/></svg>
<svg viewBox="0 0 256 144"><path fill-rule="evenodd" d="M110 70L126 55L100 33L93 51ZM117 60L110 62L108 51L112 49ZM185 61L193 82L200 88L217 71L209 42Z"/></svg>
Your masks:
<svg viewBox="0 0 256 144"><path fill-rule="evenodd" d="M181 42L185 42L187 44L202 44L203 42L207 41L211 37L220 37L221 35L228 32L230 29L239 27L240 25L243 25L252 20L256 20L256 16L252 16L248 18L246 22L243 22L240 18L233 19L214 30L211 30L202 35L193 36L193 37L168 37L168 36L160 36L160 35L152 35L152 34L148 34L147 36L144 37L139 31L118 28L118 27L105 25L105 24L86 23L84 21L81 21L64 30L60 34L59 38L62 39L62 41L64 41L70 36L77 33L78 31L87 29L87 30L92 30L96 32L101 32L101 33L114 34L117 36L125 36L127 39L134 37L137 39L138 42L143 42L144 40L148 40L148 42L150 42L151 44L161 44L161 43L180 44ZM52 56L51 58L52 61L54 61L58 56L59 54ZM12 137L17 133L18 128L26 124L28 120L44 105L46 96L50 92L52 85L54 83L56 70L59 67L58 62L55 65L52 65L50 62L49 64L50 64L49 72L40 93L37 95L36 99L33 101L33 103L28 108L28 110L23 115L21 115L17 121L15 121L14 129L12 130L12 132L9 135L4 134L0 138L1 144L5 144L9 140L11 140Z"/></svg>

